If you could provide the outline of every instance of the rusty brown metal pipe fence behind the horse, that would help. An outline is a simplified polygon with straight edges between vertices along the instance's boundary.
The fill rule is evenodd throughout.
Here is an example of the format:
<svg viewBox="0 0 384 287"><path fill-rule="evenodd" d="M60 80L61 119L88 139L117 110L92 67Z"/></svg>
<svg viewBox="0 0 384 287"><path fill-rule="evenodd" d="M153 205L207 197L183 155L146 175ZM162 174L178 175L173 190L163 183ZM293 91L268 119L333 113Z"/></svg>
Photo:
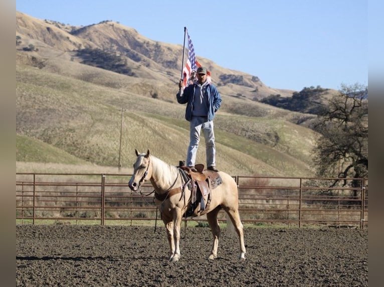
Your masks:
<svg viewBox="0 0 384 287"><path fill-rule="evenodd" d="M153 187L141 194L128 187L131 174L122 173L16 173L16 219L20 224L54 220L79 224L97 220L156 220ZM368 226L368 179L234 176L239 189L243 223L288 226ZM187 220L205 220L205 216ZM224 211L219 220L225 221ZM124 223L126 223L124 222Z"/></svg>

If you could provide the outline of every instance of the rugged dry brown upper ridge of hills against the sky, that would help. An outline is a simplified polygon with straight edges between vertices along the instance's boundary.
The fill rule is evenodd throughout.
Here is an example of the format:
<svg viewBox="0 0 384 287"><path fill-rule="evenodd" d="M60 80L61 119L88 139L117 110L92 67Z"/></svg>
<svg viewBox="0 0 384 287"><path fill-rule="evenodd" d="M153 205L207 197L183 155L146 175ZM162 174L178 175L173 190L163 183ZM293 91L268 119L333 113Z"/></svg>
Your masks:
<svg viewBox="0 0 384 287"><path fill-rule="evenodd" d="M34 45L36 49L27 54L41 57L43 64L47 66L51 61L65 58L81 62L84 58L79 56L78 51L90 48L115 53L125 59L127 68L135 74L129 81L149 80L147 83L158 89L151 81L155 80L157 84L163 85L162 88L166 88L172 82L177 82L180 76L181 43L154 41L140 35L134 28L117 22L101 21L76 27L60 24L54 19L37 19L16 11L16 35L17 50L23 51L23 48L28 48L30 44ZM271 88L256 75L221 67L210 59L200 57L199 54L197 57L212 71L212 79L222 87L223 93L260 99L276 93L289 96L293 92ZM99 58L96 60L100 61ZM66 70L71 72L70 68ZM158 89L160 93L162 88Z"/></svg>

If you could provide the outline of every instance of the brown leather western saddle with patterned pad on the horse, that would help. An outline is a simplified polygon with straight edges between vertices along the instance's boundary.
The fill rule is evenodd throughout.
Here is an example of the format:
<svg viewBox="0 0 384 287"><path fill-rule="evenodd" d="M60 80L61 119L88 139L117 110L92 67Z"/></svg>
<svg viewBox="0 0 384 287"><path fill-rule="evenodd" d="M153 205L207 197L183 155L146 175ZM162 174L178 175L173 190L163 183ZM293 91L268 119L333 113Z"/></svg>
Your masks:
<svg viewBox="0 0 384 287"><path fill-rule="evenodd" d="M191 200L185 212L186 217L200 216L208 212L211 203L211 191L223 183L220 174L216 171L204 169L204 164L196 164L197 172L189 167L179 166L184 174L190 178Z"/></svg>

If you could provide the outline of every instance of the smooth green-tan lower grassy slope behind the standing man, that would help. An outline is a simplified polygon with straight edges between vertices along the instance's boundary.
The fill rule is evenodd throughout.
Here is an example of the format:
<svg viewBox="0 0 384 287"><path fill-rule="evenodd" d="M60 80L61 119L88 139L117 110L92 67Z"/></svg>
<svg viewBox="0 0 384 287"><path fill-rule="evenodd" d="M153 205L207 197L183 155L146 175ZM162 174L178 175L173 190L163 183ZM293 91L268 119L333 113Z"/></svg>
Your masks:
<svg viewBox="0 0 384 287"><path fill-rule="evenodd" d="M110 73L93 69L100 78ZM16 70L18 134L38 138L79 160L117 166L124 108L123 167L132 165L135 148L150 148L169 163L184 159L188 144L184 105L28 65L17 65ZM295 116L223 95L223 106L215 120L218 166L236 174L309 174L314 133L289 121ZM22 149L18 147L17 160L46 161L39 159L46 156L27 156ZM205 162L204 151L202 138L199 162Z"/></svg>

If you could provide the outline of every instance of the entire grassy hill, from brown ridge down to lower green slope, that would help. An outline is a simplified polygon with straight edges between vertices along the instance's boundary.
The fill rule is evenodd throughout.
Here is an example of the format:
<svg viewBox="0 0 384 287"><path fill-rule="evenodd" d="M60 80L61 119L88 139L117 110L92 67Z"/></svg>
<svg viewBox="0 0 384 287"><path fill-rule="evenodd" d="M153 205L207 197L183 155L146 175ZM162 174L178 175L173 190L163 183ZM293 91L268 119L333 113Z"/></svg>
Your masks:
<svg viewBox="0 0 384 287"><path fill-rule="evenodd" d="M75 27L21 12L16 35L18 161L76 164L74 156L79 164L117 166L121 122L123 167L132 165L135 148L150 148L169 163L184 159L188 123L185 106L175 99L181 45L150 40L112 21ZM94 52L107 60L98 59L98 66L84 61ZM218 167L234 174L311 175L317 135L307 126L314 115L255 100L293 91L199 60L223 97L215 119ZM114 61L128 72L103 66ZM42 148L33 147L35 140ZM204 150L202 139L200 162Z"/></svg>

